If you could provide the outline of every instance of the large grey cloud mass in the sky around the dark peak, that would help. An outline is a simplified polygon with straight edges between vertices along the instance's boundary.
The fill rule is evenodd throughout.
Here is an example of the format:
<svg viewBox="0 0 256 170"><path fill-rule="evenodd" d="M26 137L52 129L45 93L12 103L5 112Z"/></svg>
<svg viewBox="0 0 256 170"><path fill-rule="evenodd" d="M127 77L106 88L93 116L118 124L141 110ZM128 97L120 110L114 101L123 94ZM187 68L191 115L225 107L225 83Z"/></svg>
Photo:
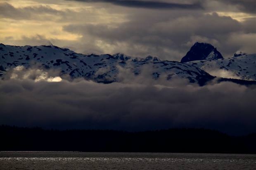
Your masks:
<svg viewBox="0 0 256 170"><path fill-rule="evenodd" d="M239 49L237 46L226 46L229 36L234 32L251 33L256 30L253 19L239 23L231 17L219 16L216 13L194 12L187 16L187 13L179 11L152 12L131 16L129 19L128 22L114 24L114 27L108 24L74 24L65 26L64 30L83 35L82 42L86 42L90 35L93 39L111 44L116 48L114 53L122 52L132 56L156 55L167 60L180 60L196 41L211 43L224 56L228 54L229 57ZM92 44L95 43L90 41L86 46ZM249 52L251 51L253 49Z"/></svg>

